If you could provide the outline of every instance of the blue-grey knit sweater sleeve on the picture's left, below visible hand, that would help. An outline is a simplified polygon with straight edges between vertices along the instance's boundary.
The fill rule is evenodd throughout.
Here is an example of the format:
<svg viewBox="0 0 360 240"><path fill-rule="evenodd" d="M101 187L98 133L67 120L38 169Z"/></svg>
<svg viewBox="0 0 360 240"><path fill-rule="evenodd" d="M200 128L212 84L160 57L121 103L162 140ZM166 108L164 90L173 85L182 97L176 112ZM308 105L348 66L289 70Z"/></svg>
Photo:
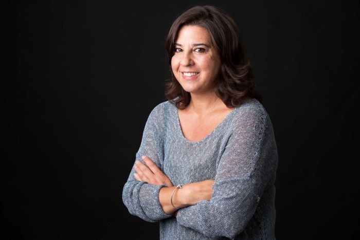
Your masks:
<svg viewBox="0 0 360 240"><path fill-rule="evenodd" d="M148 156L161 169L163 151L160 144L162 140L161 122L157 118L161 116L159 112L161 112L160 104L152 110L148 117L135 159L142 161L142 155ZM122 201L130 214L150 222L170 217L171 215L163 211L159 202L159 191L165 185L155 186L147 182L137 181L134 173L135 171L132 168L122 190Z"/></svg>

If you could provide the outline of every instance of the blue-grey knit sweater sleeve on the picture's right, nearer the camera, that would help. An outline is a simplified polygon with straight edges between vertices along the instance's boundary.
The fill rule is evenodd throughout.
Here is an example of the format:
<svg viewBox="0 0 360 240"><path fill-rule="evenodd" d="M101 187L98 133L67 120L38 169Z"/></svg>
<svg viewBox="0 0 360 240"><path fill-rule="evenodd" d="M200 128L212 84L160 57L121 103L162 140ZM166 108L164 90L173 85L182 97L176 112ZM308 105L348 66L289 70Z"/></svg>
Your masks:
<svg viewBox="0 0 360 240"><path fill-rule="evenodd" d="M253 217L276 168L271 121L262 106L250 108L229 134L218 161L212 198L180 209L177 222L208 237L235 238Z"/></svg>

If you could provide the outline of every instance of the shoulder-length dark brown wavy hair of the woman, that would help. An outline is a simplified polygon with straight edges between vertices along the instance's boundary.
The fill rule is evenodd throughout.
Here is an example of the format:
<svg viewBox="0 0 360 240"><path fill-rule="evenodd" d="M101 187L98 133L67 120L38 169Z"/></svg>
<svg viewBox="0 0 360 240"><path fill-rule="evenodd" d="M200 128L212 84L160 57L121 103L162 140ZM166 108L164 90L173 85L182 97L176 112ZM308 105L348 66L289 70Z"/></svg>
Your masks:
<svg viewBox="0 0 360 240"><path fill-rule="evenodd" d="M171 58L175 52L175 41L183 26L200 26L207 29L212 45L221 59L221 72L215 81L215 94L227 107L237 107L245 97L261 101L254 81L253 69L245 59L239 29L235 21L221 8L195 6L179 15L173 22L165 41L169 57L171 78L166 82L165 97L177 108L186 108L190 93L176 80L171 69Z"/></svg>

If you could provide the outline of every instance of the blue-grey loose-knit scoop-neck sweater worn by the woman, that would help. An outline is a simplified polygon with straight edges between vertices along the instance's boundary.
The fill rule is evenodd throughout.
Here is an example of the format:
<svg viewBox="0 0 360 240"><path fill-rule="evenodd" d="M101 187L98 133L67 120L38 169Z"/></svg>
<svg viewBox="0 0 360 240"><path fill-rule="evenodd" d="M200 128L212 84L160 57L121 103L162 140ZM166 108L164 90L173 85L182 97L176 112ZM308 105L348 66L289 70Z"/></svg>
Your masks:
<svg viewBox="0 0 360 240"><path fill-rule="evenodd" d="M248 100L233 109L204 139L187 140L177 108L169 101L149 115L136 159L146 155L173 185L214 179L210 201L164 213L158 193L165 186L135 180L122 190L129 212L159 221L159 239L275 239L277 147L263 105Z"/></svg>

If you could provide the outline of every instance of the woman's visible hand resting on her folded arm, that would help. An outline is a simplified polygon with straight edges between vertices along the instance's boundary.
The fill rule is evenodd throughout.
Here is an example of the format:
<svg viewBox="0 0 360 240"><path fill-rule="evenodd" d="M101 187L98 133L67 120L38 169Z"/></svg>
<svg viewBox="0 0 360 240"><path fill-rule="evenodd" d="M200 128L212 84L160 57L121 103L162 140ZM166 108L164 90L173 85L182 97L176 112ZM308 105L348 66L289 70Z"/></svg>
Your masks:
<svg viewBox="0 0 360 240"><path fill-rule="evenodd" d="M163 172L157 167L157 165L147 156L142 156L144 163L136 160L134 166L134 177L138 181L146 181L152 185L166 185L172 187L173 184Z"/></svg>

